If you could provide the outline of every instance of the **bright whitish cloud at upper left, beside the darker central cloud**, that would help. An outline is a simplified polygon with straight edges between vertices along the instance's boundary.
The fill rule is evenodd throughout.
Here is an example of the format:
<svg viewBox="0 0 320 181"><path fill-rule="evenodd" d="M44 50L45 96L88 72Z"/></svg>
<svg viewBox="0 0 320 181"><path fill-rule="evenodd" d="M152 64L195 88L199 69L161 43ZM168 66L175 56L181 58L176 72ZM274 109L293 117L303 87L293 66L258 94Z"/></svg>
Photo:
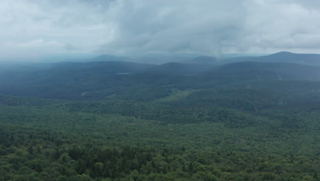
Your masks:
<svg viewBox="0 0 320 181"><path fill-rule="evenodd" d="M109 1L111 2L111 1ZM101 4L100 4L101 3ZM0 1L0 60L70 52L91 53L108 42L108 1ZM77 49L75 49L77 45Z"/></svg>

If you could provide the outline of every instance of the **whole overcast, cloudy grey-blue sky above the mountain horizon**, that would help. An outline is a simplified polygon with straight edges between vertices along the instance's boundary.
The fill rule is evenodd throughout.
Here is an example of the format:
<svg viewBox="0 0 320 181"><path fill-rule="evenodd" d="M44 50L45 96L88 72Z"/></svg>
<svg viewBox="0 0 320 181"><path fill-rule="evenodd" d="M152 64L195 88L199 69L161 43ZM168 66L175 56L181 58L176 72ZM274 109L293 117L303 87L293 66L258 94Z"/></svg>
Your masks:
<svg viewBox="0 0 320 181"><path fill-rule="evenodd" d="M1 0L0 60L320 53L319 0Z"/></svg>

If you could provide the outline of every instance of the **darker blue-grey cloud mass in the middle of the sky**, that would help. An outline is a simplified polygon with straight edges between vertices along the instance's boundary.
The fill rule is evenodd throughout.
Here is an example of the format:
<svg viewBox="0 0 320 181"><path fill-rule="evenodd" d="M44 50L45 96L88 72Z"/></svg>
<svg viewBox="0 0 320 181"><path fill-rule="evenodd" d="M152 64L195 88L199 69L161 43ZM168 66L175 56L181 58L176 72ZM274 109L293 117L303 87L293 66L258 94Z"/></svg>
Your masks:
<svg viewBox="0 0 320 181"><path fill-rule="evenodd" d="M238 38L241 1L116 1L109 21L117 34L102 50L118 53L215 52Z"/></svg>

